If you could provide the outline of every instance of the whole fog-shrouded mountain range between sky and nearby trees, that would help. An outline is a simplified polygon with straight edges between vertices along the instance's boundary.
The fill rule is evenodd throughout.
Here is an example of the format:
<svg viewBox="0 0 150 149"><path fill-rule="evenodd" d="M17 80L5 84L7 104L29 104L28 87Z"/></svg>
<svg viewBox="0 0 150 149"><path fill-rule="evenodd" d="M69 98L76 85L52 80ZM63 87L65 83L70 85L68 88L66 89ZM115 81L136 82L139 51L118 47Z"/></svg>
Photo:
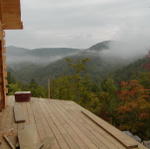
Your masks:
<svg viewBox="0 0 150 149"><path fill-rule="evenodd" d="M46 84L49 76L55 78L70 73L65 58L75 61L89 58L87 72L91 78L99 80L110 72L127 66L146 55L147 49L140 50L140 54L138 52L130 56L127 56L129 50L124 53L120 51L116 53L119 47L124 49L123 46L125 46L124 43L116 41L103 41L87 49L40 48L29 50L10 46L7 48L8 70L21 82L29 82L34 78L40 84Z"/></svg>

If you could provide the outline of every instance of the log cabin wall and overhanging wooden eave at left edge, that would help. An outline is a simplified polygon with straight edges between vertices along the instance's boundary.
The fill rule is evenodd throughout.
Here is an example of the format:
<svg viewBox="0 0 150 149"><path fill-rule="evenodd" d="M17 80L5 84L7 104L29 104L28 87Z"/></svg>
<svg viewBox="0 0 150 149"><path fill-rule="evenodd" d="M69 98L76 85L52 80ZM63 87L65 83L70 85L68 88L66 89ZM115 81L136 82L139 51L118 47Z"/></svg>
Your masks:
<svg viewBox="0 0 150 149"><path fill-rule="evenodd" d="M20 0L0 0L0 111L5 108L8 92L4 30L22 28Z"/></svg>

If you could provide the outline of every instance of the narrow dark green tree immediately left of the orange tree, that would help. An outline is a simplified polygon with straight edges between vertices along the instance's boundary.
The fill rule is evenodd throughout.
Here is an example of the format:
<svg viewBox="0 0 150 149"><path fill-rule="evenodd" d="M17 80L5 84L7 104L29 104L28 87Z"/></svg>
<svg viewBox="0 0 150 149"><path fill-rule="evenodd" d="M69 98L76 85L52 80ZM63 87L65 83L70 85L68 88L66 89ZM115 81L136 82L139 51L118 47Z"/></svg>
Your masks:
<svg viewBox="0 0 150 149"><path fill-rule="evenodd" d="M101 91L98 94L100 102L99 116L109 121L110 123L116 123L116 107L118 105L117 100L117 87L113 79L108 78L101 83Z"/></svg>

